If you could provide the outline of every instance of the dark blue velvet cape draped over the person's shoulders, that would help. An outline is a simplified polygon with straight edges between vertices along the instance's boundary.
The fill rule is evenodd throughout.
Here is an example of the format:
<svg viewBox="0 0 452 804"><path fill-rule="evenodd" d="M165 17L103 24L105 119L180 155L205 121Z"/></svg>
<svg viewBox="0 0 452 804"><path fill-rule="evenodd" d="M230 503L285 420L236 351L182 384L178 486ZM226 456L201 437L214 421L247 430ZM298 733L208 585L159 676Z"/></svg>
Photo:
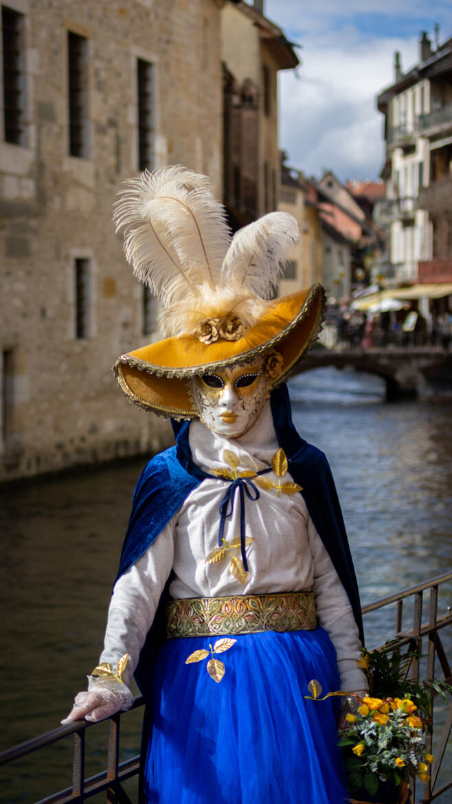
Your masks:
<svg viewBox="0 0 452 804"><path fill-rule="evenodd" d="M286 385L281 385L272 392L270 404L277 441L286 453L290 474L302 486L301 494L310 518L347 592L360 629L361 641L364 641L355 570L327 458L319 449L300 437L294 428ZM146 552L176 511L179 511L191 491L208 477L191 459L189 427L189 421L173 422L176 446L166 449L149 461L138 479L117 577ZM146 638L135 671L138 687L148 700L151 696L154 660L164 641L163 609L170 580L171 577L167 581L154 625Z"/></svg>

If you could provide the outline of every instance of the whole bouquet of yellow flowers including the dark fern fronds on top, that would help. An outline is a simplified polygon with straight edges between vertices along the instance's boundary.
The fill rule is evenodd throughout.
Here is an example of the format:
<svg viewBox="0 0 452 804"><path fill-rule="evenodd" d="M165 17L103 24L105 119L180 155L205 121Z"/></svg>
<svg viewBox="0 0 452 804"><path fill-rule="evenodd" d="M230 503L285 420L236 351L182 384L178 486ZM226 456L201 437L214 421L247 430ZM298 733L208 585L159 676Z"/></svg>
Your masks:
<svg viewBox="0 0 452 804"><path fill-rule="evenodd" d="M433 699L438 694L446 700L452 687L444 680L409 679L413 660L418 658L413 646L401 653L397 642L387 642L382 650L364 649L358 664L368 676L369 695L364 699L343 691L325 695L348 695L350 702L339 745L351 802L403 804L409 796L410 777L429 780L434 757L425 745ZM311 681L308 688L306 698L324 699L318 681Z"/></svg>

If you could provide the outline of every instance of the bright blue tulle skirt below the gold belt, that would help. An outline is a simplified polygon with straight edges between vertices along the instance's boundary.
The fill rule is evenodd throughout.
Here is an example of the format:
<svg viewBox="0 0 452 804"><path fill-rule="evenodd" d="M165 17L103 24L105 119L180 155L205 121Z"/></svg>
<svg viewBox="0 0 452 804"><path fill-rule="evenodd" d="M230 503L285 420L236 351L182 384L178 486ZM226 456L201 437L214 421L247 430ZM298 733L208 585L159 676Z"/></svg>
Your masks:
<svg viewBox="0 0 452 804"><path fill-rule="evenodd" d="M343 804L339 699L305 699L311 679L339 689L327 633L237 636L215 655L220 683L207 669L215 642L174 639L158 656L146 804ZM209 656L185 663L201 649Z"/></svg>

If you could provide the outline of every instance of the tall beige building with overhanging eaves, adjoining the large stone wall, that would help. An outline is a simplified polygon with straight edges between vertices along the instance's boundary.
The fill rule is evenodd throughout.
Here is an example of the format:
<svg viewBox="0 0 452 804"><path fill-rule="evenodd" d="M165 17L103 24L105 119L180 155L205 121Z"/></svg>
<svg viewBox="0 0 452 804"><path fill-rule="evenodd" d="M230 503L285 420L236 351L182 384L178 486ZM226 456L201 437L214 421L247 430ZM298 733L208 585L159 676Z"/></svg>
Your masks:
<svg viewBox="0 0 452 804"><path fill-rule="evenodd" d="M281 28L265 17L258 0L254 6L241 0L226 2L221 31L229 85L232 79L235 84L229 89L235 97L226 106L224 200L232 226L238 228L277 209L277 73L295 68L298 57Z"/></svg>

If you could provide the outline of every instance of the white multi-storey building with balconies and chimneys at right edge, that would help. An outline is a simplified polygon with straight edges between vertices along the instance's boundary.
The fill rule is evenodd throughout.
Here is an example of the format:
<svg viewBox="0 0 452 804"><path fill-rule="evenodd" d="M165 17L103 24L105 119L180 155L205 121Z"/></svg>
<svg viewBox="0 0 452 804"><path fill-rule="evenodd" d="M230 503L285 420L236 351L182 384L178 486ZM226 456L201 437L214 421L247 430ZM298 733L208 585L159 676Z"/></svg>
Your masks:
<svg viewBox="0 0 452 804"><path fill-rule="evenodd" d="M419 61L408 72L396 53L394 82L380 92L377 106L384 114L394 283L438 285L430 298L442 290L446 298L452 282L452 39L433 44L423 31ZM418 289L417 297L427 315L428 291ZM452 309L452 297L449 304Z"/></svg>

